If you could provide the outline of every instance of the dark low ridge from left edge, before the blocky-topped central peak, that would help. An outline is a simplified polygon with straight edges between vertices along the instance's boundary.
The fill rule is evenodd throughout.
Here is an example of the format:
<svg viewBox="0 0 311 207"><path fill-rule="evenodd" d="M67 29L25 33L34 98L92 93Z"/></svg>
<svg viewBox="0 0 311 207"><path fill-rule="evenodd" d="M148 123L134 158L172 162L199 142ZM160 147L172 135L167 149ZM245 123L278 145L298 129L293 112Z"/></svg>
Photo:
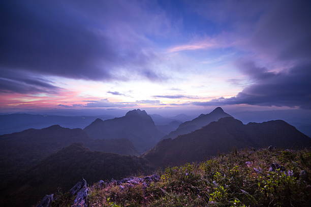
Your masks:
<svg viewBox="0 0 311 207"><path fill-rule="evenodd" d="M0 136L0 176L4 178L0 189L29 167L72 143L83 143L92 150L118 154L137 155L127 139L94 140L82 129L63 128L53 125L44 129L27 129Z"/></svg>

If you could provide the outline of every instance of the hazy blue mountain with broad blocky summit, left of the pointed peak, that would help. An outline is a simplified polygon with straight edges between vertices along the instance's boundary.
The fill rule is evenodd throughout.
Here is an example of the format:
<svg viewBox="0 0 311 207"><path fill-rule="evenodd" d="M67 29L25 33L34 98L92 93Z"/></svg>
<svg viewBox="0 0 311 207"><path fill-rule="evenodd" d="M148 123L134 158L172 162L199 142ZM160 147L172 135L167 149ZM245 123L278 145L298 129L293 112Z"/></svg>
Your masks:
<svg viewBox="0 0 311 207"><path fill-rule="evenodd" d="M140 153L152 148L164 135L154 125L152 118L139 109L119 118L105 121L97 119L84 131L92 139L129 139Z"/></svg>

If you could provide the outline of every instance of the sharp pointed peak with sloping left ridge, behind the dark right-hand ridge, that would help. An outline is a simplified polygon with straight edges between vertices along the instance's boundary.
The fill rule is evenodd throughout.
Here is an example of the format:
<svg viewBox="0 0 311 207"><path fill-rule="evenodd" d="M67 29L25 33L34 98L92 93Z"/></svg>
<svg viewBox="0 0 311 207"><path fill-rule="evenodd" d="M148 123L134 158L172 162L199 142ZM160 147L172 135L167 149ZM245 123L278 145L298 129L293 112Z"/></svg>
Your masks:
<svg viewBox="0 0 311 207"><path fill-rule="evenodd" d="M223 117L231 117L231 115L225 113L222 108L217 107L209 114L201 114L191 121L186 121L180 124L175 131L170 132L168 135L164 136L163 139L175 139L178 135L190 133Z"/></svg>

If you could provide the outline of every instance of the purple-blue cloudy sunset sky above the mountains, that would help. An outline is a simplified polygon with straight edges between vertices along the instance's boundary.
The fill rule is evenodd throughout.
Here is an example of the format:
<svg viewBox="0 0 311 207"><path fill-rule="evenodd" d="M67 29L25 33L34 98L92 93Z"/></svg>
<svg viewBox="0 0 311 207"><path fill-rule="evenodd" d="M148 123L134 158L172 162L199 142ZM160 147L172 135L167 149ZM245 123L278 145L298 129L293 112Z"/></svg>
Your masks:
<svg viewBox="0 0 311 207"><path fill-rule="evenodd" d="M310 1L12 0L0 17L2 114L311 111Z"/></svg>

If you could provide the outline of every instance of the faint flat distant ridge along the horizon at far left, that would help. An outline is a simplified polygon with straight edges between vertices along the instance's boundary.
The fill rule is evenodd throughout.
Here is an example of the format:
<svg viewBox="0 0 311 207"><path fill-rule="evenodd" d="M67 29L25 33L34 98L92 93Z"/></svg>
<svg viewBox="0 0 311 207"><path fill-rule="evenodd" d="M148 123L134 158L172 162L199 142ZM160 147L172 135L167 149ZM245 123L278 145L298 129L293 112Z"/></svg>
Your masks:
<svg viewBox="0 0 311 207"><path fill-rule="evenodd" d="M33 114L0 115L0 134L13 133L29 128L41 129L58 124L66 128L84 128L96 118L111 119L112 116L51 116Z"/></svg>

